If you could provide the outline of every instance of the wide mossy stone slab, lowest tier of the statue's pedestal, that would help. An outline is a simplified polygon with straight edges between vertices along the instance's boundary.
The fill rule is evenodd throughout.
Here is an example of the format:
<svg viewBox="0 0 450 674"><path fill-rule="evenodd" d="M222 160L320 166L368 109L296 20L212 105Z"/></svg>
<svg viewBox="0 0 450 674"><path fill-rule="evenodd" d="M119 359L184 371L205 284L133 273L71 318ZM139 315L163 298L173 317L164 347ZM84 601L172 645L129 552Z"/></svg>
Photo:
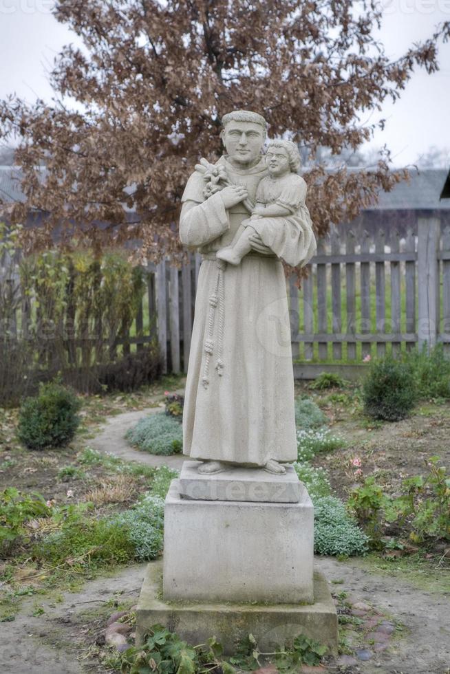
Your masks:
<svg viewBox="0 0 450 674"><path fill-rule="evenodd" d="M162 624L189 644L204 644L211 636L235 653L236 642L253 634L259 649L272 652L290 646L299 634L337 653L338 622L330 590L321 574L314 574L314 604L250 605L239 603L167 602L160 599L160 562L147 567L136 611L136 644L144 642L149 628Z"/></svg>

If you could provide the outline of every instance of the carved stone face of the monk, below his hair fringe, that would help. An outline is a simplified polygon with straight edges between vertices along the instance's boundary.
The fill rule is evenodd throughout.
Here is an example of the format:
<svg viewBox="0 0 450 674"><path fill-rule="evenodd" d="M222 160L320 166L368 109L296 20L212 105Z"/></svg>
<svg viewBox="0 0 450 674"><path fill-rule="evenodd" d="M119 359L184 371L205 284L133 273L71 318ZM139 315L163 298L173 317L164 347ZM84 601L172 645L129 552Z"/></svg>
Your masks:
<svg viewBox="0 0 450 674"><path fill-rule="evenodd" d="M259 160L264 145L264 130L261 124L228 122L221 138L233 163L252 166Z"/></svg>

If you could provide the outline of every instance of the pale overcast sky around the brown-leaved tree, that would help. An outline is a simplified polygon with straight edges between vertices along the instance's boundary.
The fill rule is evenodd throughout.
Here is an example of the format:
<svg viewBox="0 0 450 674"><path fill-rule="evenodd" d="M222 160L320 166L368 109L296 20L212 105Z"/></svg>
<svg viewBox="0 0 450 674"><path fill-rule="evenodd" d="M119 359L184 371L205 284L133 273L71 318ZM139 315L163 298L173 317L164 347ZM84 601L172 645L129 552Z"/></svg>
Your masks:
<svg viewBox="0 0 450 674"><path fill-rule="evenodd" d="M87 0L89 1L89 0ZM0 98L15 91L27 100L50 100L47 72L61 47L76 40L51 14L52 0L0 0ZM387 56L397 58L425 40L437 23L450 21L450 0L384 0L385 19L377 36ZM450 43L440 45L440 71L419 69L400 100L363 121L387 120L370 146L387 144L394 163L404 166L430 146L450 147Z"/></svg>

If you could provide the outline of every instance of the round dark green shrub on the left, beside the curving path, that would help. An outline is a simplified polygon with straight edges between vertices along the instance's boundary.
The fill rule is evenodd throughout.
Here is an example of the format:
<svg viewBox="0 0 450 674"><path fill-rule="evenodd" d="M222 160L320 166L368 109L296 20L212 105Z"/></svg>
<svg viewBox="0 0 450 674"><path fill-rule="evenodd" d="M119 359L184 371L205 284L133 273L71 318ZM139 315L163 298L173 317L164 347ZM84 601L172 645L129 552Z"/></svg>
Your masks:
<svg viewBox="0 0 450 674"><path fill-rule="evenodd" d="M29 449L63 447L75 435L81 403L61 384L41 384L39 395L21 406L17 435Z"/></svg>

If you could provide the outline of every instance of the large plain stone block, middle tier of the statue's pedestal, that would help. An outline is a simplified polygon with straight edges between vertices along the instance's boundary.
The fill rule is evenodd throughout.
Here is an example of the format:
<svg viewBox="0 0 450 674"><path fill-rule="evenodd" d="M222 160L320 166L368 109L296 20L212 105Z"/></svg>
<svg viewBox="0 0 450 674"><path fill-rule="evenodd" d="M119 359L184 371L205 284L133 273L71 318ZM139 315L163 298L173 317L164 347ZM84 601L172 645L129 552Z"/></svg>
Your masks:
<svg viewBox="0 0 450 674"><path fill-rule="evenodd" d="M164 600L311 603L314 510L298 503L193 501L173 480L164 505Z"/></svg>

